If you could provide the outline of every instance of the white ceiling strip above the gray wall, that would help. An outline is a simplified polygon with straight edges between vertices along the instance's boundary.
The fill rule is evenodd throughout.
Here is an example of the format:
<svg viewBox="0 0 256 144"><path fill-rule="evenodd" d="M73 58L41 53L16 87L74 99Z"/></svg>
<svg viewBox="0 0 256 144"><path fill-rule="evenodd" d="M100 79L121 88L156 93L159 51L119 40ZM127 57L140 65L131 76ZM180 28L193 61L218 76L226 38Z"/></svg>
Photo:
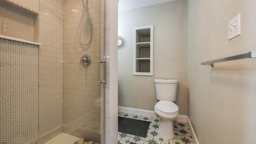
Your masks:
<svg viewBox="0 0 256 144"><path fill-rule="evenodd" d="M154 4L161 4L164 2L171 2L174 0L119 0L118 1L118 12L126 10L132 10L135 8L141 8L144 6L151 6Z"/></svg>

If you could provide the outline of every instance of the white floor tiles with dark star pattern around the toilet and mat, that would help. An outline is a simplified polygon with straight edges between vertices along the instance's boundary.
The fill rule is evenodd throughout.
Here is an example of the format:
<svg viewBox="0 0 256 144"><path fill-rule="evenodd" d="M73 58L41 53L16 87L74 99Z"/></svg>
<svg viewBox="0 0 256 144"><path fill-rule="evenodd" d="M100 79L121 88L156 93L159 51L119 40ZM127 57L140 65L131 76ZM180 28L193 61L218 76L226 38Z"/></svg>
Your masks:
<svg viewBox="0 0 256 144"><path fill-rule="evenodd" d="M158 135L159 119L118 112L118 116L151 122L146 138L118 132L118 144L196 144L192 140L190 127L183 122L173 122L175 137L171 140Z"/></svg>

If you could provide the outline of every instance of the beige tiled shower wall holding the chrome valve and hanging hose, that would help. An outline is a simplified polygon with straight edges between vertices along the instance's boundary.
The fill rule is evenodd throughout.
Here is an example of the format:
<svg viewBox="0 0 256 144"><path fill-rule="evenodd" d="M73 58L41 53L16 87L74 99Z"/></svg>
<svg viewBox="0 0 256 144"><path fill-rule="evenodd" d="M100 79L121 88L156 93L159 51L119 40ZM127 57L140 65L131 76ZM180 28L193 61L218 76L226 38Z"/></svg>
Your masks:
<svg viewBox="0 0 256 144"><path fill-rule="evenodd" d="M101 30L101 22L104 23L104 20L101 20L100 0L85 2L92 22L92 42L86 46L80 44L77 38L83 3L81 0L64 0L63 131L100 142L100 102L103 104L104 100L100 98L103 84L97 82L100 80L101 66L97 61L102 60L100 46L104 31ZM80 36L83 43L90 39L90 24L86 13L80 27ZM88 67L79 64L84 54L92 58Z"/></svg>

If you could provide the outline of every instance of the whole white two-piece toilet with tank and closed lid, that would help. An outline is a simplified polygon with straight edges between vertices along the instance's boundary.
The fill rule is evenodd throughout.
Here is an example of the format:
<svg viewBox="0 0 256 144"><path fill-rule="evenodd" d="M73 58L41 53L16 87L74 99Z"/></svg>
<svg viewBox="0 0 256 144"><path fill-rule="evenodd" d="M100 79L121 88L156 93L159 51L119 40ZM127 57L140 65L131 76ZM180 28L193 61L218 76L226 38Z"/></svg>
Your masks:
<svg viewBox="0 0 256 144"><path fill-rule="evenodd" d="M155 79L156 99L160 100L156 103L154 111L160 119L158 134L162 138L174 138L172 121L177 118L179 108L174 101L176 100L176 92L178 80Z"/></svg>

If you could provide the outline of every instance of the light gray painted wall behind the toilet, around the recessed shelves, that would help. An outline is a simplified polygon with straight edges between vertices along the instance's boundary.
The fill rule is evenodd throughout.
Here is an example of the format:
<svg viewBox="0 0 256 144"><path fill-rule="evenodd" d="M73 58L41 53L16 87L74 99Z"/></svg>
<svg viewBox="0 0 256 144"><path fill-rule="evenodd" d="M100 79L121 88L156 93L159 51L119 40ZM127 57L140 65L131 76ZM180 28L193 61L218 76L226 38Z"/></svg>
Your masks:
<svg viewBox="0 0 256 144"><path fill-rule="evenodd" d="M134 76L133 28L154 25L153 76ZM154 79L178 79L176 104L188 114L187 0L166 2L118 13L118 35L126 46L118 50L118 106L154 110Z"/></svg>

